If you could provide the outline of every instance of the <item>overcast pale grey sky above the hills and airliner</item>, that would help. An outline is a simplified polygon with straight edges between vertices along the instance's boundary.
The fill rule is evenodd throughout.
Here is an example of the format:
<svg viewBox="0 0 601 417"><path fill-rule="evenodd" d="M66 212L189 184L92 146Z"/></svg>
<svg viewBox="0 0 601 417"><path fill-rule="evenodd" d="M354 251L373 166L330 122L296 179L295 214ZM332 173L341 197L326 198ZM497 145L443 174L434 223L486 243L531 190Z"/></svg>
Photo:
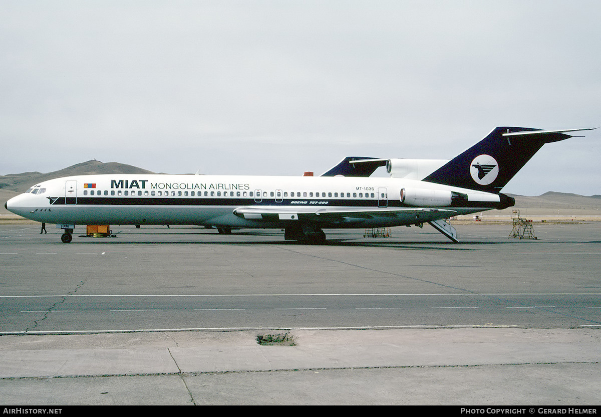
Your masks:
<svg viewBox="0 0 601 417"><path fill-rule="evenodd" d="M0 175L319 175L601 125L601 2L0 0ZM504 188L601 194L601 129ZM382 168L380 168L382 169ZM385 172L384 172L385 174Z"/></svg>

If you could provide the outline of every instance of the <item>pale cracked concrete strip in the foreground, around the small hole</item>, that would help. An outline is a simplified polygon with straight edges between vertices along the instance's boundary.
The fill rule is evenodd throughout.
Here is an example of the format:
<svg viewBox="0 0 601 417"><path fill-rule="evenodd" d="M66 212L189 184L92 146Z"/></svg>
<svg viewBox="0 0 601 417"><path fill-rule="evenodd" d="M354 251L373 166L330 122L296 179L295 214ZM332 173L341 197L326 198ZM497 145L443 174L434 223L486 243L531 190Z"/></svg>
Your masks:
<svg viewBox="0 0 601 417"><path fill-rule="evenodd" d="M291 330L0 338L0 403L599 404L596 329Z"/></svg>

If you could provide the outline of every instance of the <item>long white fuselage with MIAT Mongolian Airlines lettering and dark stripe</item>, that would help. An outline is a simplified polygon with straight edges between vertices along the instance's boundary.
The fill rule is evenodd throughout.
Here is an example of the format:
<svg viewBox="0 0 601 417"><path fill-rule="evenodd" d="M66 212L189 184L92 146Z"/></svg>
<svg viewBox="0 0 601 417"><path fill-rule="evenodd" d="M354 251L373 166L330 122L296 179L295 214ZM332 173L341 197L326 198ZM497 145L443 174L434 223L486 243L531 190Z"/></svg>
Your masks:
<svg viewBox="0 0 601 417"><path fill-rule="evenodd" d="M401 190L409 197L404 199ZM451 203L451 192L462 195L462 203ZM7 208L57 224L269 228L298 221L295 214L320 227L382 227L424 223L498 205L498 194L403 178L86 175L37 184L10 199ZM341 215L332 217L332 213ZM344 215L348 213L352 215Z"/></svg>

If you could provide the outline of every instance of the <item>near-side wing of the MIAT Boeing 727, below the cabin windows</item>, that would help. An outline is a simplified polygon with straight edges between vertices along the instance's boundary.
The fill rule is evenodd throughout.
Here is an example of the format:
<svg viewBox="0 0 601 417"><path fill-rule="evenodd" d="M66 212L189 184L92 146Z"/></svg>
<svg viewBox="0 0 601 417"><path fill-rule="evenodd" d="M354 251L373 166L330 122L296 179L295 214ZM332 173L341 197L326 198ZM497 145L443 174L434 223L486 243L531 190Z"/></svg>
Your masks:
<svg viewBox="0 0 601 417"><path fill-rule="evenodd" d="M278 206L250 206L239 207L233 211L238 217L255 220L344 220L344 218L374 218L374 217L413 217L426 212L448 212L456 214L454 210L435 208L391 208L374 207L360 209L344 208L319 208L310 206L278 207Z"/></svg>

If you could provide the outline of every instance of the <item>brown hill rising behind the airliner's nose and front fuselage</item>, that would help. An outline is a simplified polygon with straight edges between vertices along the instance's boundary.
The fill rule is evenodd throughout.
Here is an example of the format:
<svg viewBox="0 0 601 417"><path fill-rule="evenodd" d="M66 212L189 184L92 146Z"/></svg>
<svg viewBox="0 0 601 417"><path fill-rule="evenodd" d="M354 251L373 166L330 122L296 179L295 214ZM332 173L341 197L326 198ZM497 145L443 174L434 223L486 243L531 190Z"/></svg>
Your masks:
<svg viewBox="0 0 601 417"><path fill-rule="evenodd" d="M49 173L34 171L3 175L0 176L0 189L22 193L32 185L49 179L94 174L154 174L154 172L134 167L133 165L120 164L119 162L105 163L92 159L91 161L81 162L80 164L71 165L62 170Z"/></svg>

